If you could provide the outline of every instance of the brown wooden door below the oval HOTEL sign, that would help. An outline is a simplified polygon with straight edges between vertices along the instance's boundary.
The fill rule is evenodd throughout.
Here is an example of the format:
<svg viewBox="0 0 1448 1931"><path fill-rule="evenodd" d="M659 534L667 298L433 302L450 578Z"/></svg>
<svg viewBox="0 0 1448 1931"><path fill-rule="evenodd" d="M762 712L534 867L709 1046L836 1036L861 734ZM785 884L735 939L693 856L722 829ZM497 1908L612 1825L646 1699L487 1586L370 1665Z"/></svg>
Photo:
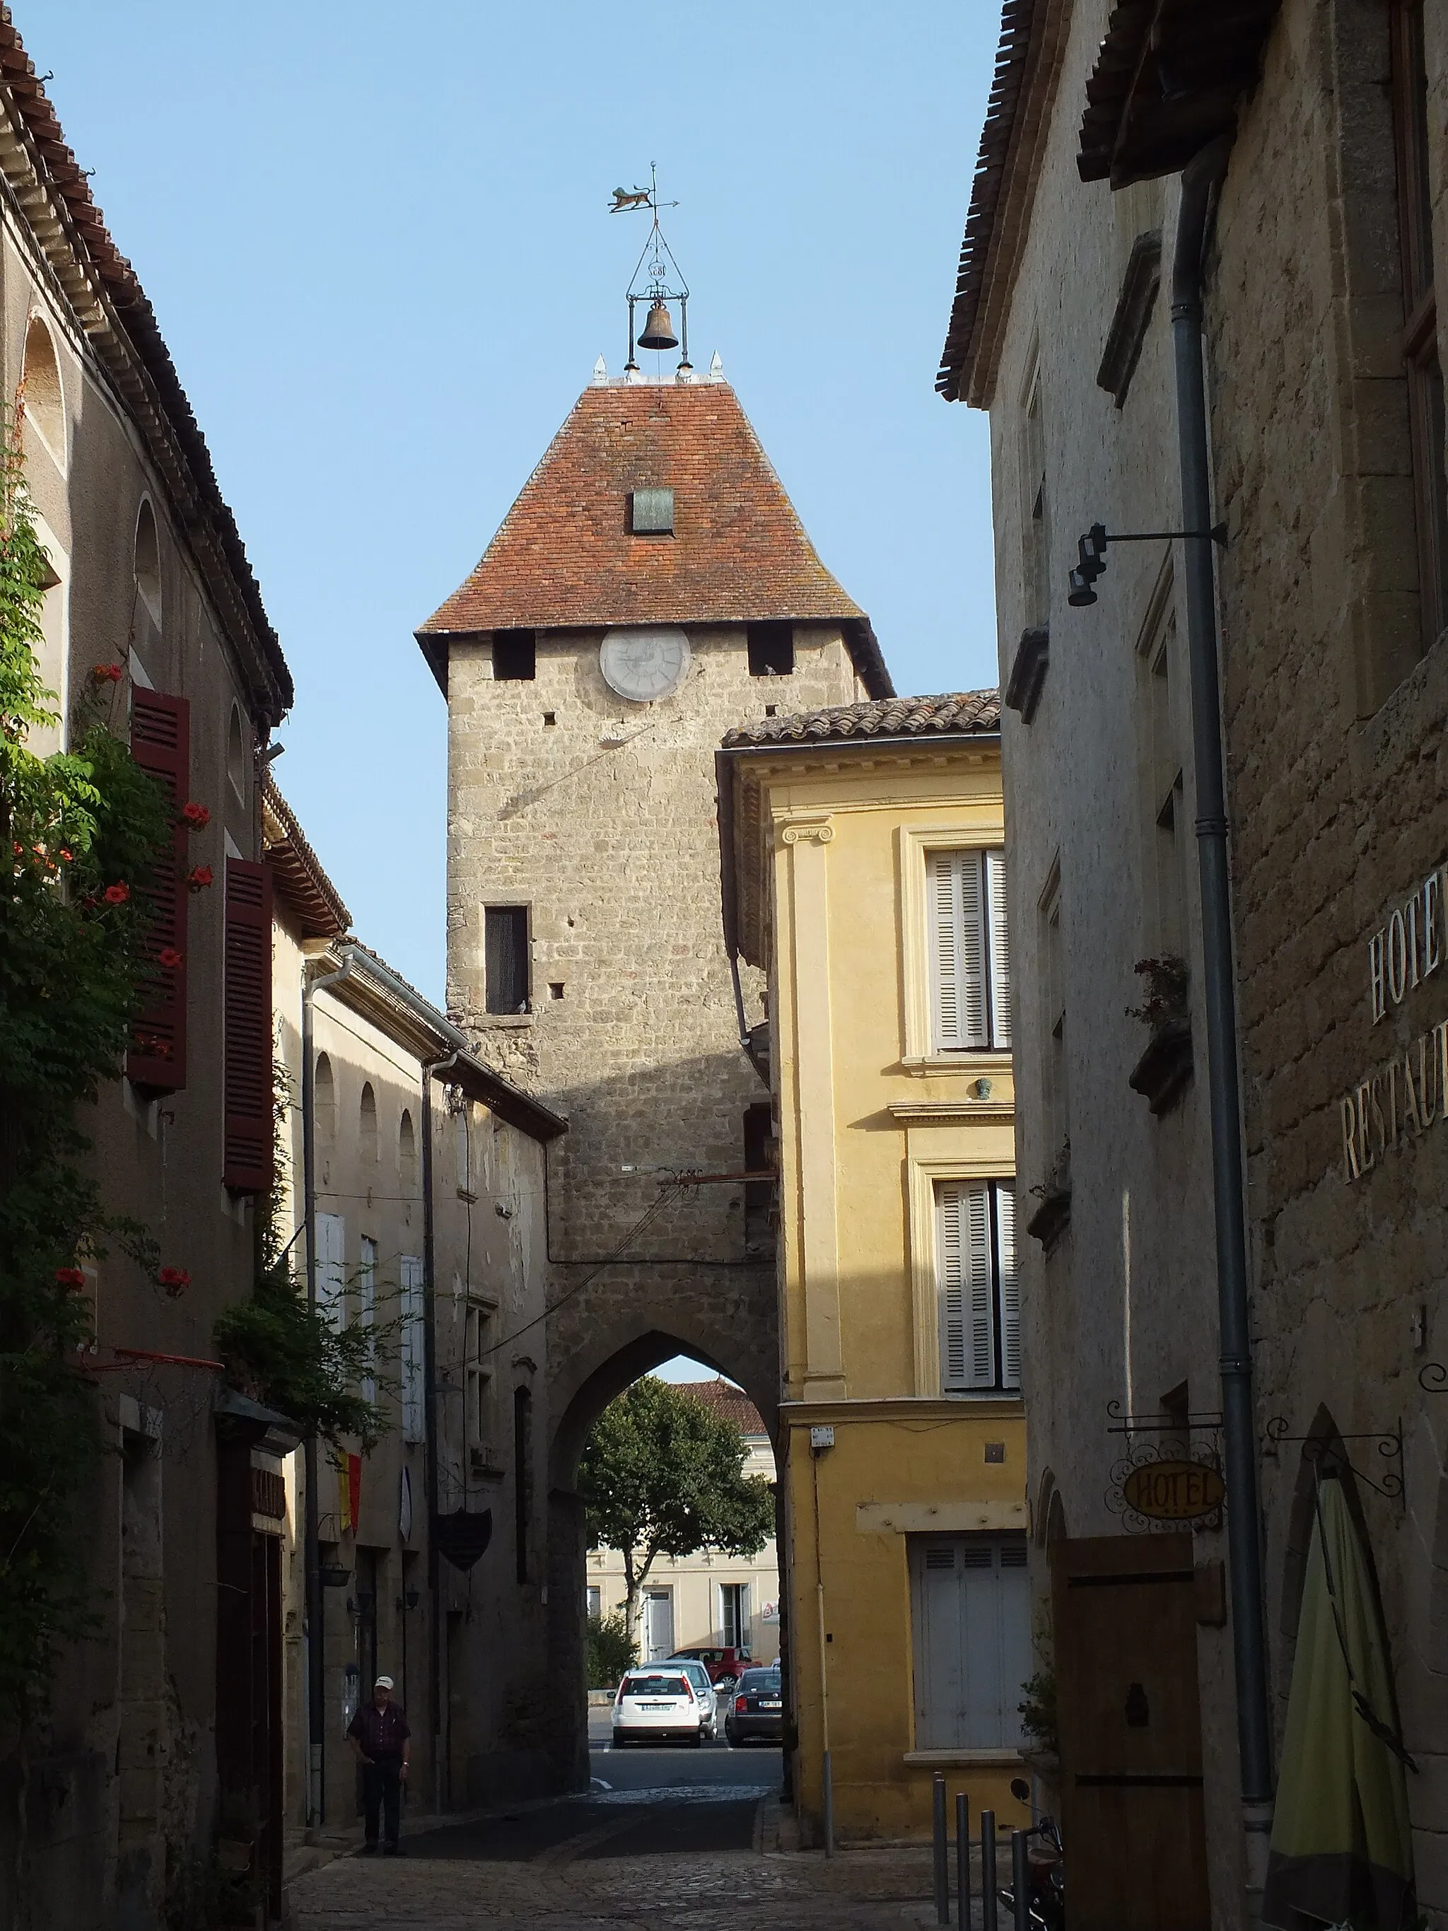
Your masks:
<svg viewBox="0 0 1448 1931"><path fill-rule="evenodd" d="M1050 1547L1072 1931L1209 1931L1191 1535Z"/></svg>

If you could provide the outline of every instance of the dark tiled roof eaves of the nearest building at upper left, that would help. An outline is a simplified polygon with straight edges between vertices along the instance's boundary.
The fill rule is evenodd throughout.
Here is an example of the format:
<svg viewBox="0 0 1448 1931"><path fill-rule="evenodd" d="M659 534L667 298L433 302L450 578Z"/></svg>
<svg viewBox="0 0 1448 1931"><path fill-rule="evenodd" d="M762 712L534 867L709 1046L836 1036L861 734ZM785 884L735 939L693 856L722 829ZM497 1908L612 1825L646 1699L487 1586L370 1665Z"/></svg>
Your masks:
<svg viewBox="0 0 1448 1931"><path fill-rule="evenodd" d="M33 238L41 278L70 311L145 440L249 678L253 713L266 724L280 724L293 701L292 672L216 483L207 440L154 309L106 230L8 6L0 6L0 180Z"/></svg>

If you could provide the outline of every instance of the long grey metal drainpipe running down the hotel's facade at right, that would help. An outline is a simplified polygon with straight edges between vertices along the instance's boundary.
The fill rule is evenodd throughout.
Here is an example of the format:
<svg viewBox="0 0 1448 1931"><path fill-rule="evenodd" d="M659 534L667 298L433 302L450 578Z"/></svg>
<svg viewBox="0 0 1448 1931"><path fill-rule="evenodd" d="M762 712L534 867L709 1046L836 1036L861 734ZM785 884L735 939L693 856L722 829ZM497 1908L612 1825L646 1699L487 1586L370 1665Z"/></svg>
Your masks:
<svg viewBox="0 0 1448 1931"><path fill-rule="evenodd" d="M1222 135L1182 172L1182 209L1172 261L1172 346L1176 425L1182 458L1183 529L1211 529L1212 485L1207 448L1207 380L1201 346L1203 247L1212 191L1226 174L1232 137ZM1197 767L1197 855L1201 863L1201 948L1207 1006L1207 1068L1216 1213L1216 1307L1220 1323L1222 1435L1226 1442L1226 1531L1232 1568L1232 1649L1238 1688L1241 1802L1249 1840L1247 1881L1261 1883L1272 1804L1272 1730L1263 1620L1257 1423L1251 1388L1241 1093L1232 962L1232 896L1222 763L1222 697L1216 641L1216 560L1209 537L1185 543L1191 749Z"/></svg>

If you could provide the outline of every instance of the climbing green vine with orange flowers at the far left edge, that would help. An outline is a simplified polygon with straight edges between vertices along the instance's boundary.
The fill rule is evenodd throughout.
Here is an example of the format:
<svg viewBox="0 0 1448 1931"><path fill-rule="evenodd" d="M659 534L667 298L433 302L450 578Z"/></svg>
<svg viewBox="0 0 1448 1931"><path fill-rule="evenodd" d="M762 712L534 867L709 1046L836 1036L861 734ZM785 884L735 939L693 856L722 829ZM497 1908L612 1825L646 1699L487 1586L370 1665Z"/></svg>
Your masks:
<svg viewBox="0 0 1448 1931"><path fill-rule="evenodd" d="M158 1278L145 1230L85 1170L87 1103L122 1074L147 977L143 888L172 836L166 799L108 730L118 666L97 666L71 749L37 668L54 581L17 436L0 454L0 1713L44 1701L58 1649L93 1620L75 1502L100 1452L87 1267L120 1249ZM174 1271L172 1271L174 1273Z"/></svg>

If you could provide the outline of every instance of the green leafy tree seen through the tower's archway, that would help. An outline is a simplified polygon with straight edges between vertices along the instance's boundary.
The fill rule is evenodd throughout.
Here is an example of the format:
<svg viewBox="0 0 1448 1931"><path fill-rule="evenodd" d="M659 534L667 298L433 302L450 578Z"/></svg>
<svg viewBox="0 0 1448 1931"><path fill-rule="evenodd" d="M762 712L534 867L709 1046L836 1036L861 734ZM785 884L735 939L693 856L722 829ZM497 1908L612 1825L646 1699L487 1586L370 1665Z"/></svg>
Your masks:
<svg viewBox="0 0 1448 1931"><path fill-rule="evenodd" d="M753 1556L774 1533L774 1489L745 1475L738 1427L691 1394L645 1375L599 1415L579 1462L589 1547L624 1558L624 1620L639 1630L639 1597L658 1556L718 1549Z"/></svg>

